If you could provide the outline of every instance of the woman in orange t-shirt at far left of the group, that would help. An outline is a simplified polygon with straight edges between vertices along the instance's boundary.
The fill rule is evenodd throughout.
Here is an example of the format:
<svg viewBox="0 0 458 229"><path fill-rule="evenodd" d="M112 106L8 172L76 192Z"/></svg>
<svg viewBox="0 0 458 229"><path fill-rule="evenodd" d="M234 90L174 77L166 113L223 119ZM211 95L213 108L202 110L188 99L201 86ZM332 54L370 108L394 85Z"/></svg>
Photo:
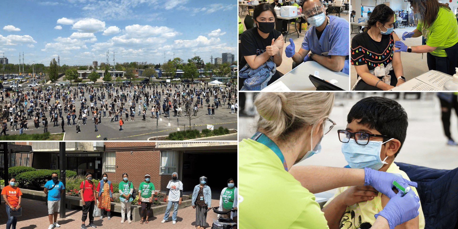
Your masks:
<svg viewBox="0 0 458 229"><path fill-rule="evenodd" d="M16 229L17 216L10 216L10 209L16 211L21 208L22 192L19 187L15 186L16 179L14 177L10 177L8 182L9 185L6 185L1 191L1 195L5 201L6 215L8 216L6 229Z"/></svg>

